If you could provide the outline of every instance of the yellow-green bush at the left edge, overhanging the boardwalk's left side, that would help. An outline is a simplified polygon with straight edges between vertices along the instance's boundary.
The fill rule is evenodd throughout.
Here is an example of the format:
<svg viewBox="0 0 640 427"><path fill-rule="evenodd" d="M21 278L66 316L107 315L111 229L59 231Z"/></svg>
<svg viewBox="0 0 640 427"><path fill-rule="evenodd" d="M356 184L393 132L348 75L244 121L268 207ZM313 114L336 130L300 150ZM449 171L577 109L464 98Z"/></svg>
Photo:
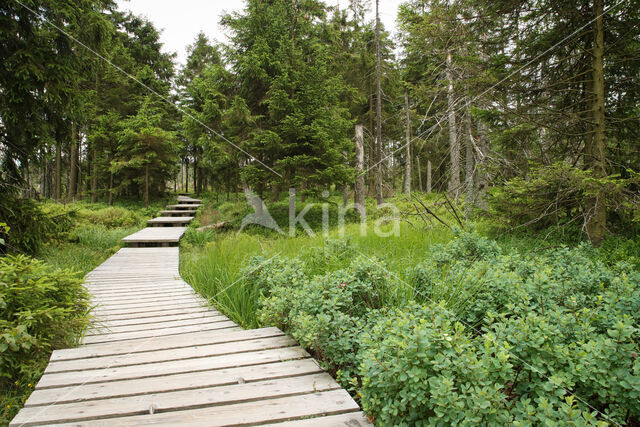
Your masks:
<svg viewBox="0 0 640 427"><path fill-rule="evenodd" d="M23 403L51 351L74 345L87 326L89 295L81 283L69 270L26 256L0 258L0 420L11 418L9 405Z"/></svg>

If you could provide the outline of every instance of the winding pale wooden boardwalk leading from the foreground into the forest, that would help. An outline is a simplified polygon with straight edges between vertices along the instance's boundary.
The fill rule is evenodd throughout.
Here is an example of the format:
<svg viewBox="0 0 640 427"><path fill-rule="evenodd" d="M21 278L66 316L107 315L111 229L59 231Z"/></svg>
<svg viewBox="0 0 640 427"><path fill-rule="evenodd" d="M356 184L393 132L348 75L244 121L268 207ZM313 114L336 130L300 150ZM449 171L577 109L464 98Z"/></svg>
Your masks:
<svg viewBox="0 0 640 427"><path fill-rule="evenodd" d="M148 230L179 239L184 227L129 237ZM178 263L177 247L127 247L89 273L92 328L82 346L53 352L10 425L370 425L294 340L242 330L193 292Z"/></svg>

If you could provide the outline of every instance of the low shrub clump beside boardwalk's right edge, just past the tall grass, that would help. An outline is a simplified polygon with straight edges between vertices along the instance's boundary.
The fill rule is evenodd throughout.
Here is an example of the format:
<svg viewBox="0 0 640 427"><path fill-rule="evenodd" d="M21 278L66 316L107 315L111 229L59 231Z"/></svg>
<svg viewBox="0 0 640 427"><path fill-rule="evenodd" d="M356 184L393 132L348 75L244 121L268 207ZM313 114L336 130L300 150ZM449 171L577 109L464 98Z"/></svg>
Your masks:
<svg viewBox="0 0 640 427"><path fill-rule="evenodd" d="M245 274L261 286L260 323L289 331L343 381L357 365L361 318L388 302L388 276L378 260L363 257L347 269L312 278L305 277L299 260L257 258Z"/></svg>

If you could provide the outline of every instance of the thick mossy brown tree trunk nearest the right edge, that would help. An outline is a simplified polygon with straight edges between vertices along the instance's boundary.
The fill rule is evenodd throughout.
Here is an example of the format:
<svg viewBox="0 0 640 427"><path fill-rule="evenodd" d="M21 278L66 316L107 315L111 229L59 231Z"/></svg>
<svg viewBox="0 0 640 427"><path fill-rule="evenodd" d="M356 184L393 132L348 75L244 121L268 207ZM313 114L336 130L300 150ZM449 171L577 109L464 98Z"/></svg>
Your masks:
<svg viewBox="0 0 640 427"><path fill-rule="evenodd" d="M604 177L606 171L606 154L605 154L605 115L604 115L604 23L603 0L594 0L593 14L595 21L593 22L593 131L591 140L591 153L587 153L586 158L589 167L593 169L596 177ZM588 203L587 212L587 234L589 240L599 246L605 238L607 229L607 207L606 195L604 192L597 194Z"/></svg>

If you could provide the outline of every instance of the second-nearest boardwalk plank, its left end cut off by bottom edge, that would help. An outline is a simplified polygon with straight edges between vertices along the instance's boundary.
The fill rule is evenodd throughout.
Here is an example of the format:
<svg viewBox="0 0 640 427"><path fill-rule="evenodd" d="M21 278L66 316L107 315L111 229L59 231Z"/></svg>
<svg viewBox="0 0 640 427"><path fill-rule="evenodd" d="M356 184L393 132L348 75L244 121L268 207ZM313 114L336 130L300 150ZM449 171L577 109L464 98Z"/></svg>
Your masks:
<svg viewBox="0 0 640 427"><path fill-rule="evenodd" d="M213 406L111 418L83 422L84 426L139 426L149 424L189 425L190 427L216 427L225 425L264 424L320 415L333 415L359 410L358 405L344 390L331 390L299 396L266 399L235 405ZM74 424L77 425L77 424ZM321 425L319 423L319 425Z"/></svg>

